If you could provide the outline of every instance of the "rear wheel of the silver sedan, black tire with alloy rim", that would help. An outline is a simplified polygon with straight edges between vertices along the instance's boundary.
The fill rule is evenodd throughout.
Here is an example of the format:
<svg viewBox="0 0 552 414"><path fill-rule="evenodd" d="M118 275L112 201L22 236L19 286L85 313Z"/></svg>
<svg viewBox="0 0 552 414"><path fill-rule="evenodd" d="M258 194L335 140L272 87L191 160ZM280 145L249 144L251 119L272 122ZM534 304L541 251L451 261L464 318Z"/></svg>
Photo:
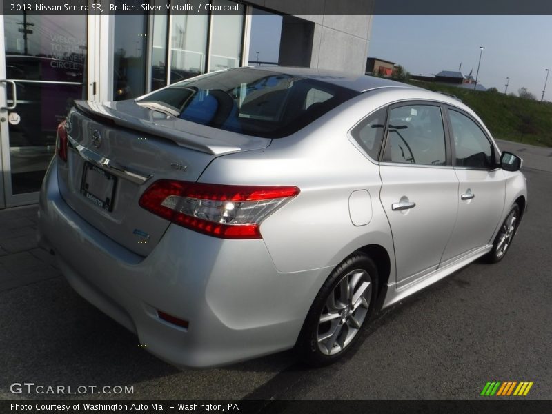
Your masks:
<svg viewBox="0 0 552 414"><path fill-rule="evenodd" d="M365 253L344 259L320 288L297 340L299 356L324 366L353 348L373 312L377 267Z"/></svg>

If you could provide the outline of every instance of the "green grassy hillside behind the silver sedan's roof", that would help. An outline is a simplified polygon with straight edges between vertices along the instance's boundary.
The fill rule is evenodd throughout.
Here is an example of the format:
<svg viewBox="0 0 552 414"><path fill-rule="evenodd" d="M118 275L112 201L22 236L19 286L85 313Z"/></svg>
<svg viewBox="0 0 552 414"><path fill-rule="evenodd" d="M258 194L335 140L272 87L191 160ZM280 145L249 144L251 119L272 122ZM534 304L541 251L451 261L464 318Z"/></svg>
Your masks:
<svg viewBox="0 0 552 414"><path fill-rule="evenodd" d="M408 83L455 95L480 116L495 138L552 147L552 103L443 83L414 80Z"/></svg>

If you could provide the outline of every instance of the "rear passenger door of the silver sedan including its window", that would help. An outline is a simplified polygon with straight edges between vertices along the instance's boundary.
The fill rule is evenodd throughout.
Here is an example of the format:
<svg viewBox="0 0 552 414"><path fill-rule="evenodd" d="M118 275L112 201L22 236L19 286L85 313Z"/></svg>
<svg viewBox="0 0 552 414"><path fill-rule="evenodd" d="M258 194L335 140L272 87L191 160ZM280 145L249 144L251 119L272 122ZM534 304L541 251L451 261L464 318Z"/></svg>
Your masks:
<svg viewBox="0 0 552 414"><path fill-rule="evenodd" d="M439 103L400 103L389 109L380 160L380 199L397 268L397 286L437 268L453 231L458 179Z"/></svg>

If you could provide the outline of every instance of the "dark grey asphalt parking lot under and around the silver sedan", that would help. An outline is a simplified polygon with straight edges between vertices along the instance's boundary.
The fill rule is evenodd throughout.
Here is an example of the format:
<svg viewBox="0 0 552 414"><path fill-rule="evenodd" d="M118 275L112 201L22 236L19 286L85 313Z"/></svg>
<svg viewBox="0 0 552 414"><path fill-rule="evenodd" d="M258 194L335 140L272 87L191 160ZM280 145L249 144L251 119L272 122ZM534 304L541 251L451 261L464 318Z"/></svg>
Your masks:
<svg viewBox="0 0 552 414"><path fill-rule="evenodd" d="M523 169L529 211L502 262L470 264L377 315L354 355L316 370L290 352L203 371L179 371L161 362L140 348L132 333L81 299L53 257L36 247L36 206L2 211L0 398L471 399L487 381L498 380L532 381L528 397L549 399L548 150L550 155L540 149L535 160L531 148L520 152L531 155ZM14 395L10 384L19 382L132 386L133 393Z"/></svg>

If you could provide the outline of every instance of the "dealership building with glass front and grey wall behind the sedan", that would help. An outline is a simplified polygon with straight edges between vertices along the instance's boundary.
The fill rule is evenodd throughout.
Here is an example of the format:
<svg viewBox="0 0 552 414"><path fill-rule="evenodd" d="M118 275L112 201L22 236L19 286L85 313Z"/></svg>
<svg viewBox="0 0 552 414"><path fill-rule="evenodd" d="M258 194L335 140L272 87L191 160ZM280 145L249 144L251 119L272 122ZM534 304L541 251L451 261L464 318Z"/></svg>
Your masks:
<svg viewBox="0 0 552 414"><path fill-rule="evenodd" d="M131 99L238 66L358 74L366 66L372 16L364 0L133 1L137 10L93 3L103 12L0 16L0 208L37 202L57 124L75 99ZM121 8L106 12L114 5Z"/></svg>

